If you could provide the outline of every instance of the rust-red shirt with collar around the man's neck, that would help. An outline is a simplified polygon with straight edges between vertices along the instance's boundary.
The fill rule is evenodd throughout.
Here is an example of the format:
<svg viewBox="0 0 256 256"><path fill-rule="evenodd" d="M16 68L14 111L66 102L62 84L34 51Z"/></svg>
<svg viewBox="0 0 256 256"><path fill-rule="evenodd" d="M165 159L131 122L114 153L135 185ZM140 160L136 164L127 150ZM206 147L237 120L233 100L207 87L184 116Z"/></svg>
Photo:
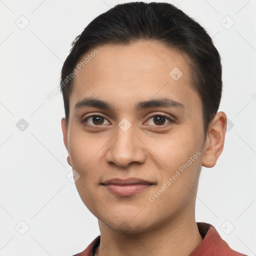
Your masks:
<svg viewBox="0 0 256 256"><path fill-rule="evenodd" d="M196 224L203 240L189 256L246 256L231 249L213 225L205 222L196 222ZM100 235L85 250L73 256L94 256L95 248L99 245L99 242Z"/></svg>

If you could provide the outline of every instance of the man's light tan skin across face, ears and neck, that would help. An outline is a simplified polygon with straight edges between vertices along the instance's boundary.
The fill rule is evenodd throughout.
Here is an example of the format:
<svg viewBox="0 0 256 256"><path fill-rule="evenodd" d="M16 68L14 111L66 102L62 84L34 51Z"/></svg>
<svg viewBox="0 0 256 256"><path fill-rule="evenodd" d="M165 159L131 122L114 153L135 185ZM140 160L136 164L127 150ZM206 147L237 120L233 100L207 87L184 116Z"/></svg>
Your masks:
<svg viewBox="0 0 256 256"><path fill-rule="evenodd" d="M77 191L98 218L100 245L95 253L189 255L202 241L194 217L200 168L214 166L222 152L226 115L215 115L204 141L202 103L191 87L186 55L152 41L97 49L73 78L68 125L61 119L67 161L80 174ZM183 73L177 80L169 75L173 67ZM75 109L84 97L108 101L113 111ZM138 101L164 97L181 102L184 109L134 108ZM87 119L94 128L81 123L91 114L105 119ZM153 116L159 114L174 121L163 119L158 124ZM131 124L126 131L118 126L123 118ZM155 201L149 201L196 151L200 156ZM134 195L114 195L100 183L115 177L142 178L154 185Z"/></svg>

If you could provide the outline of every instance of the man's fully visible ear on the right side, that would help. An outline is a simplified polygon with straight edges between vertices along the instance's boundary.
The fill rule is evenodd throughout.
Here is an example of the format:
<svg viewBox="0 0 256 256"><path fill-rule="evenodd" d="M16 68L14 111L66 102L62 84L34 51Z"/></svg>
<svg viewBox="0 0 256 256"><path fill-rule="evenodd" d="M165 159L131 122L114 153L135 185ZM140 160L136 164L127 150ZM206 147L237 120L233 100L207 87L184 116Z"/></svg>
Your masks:
<svg viewBox="0 0 256 256"><path fill-rule="evenodd" d="M224 147L225 133L226 114L220 111L215 114L213 120L209 124L203 147L203 166L210 168L216 164L217 158Z"/></svg>

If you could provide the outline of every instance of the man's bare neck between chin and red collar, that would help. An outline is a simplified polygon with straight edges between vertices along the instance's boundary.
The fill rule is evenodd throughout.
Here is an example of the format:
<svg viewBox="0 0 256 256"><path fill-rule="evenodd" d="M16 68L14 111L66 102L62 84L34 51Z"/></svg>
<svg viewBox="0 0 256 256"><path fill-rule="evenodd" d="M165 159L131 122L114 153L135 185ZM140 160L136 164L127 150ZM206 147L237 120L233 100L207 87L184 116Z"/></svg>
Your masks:
<svg viewBox="0 0 256 256"><path fill-rule="evenodd" d="M100 245L95 249L98 256L188 256L202 241L194 218L187 219L180 215L142 233L118 233L100 220L99 228Z"/></svg>

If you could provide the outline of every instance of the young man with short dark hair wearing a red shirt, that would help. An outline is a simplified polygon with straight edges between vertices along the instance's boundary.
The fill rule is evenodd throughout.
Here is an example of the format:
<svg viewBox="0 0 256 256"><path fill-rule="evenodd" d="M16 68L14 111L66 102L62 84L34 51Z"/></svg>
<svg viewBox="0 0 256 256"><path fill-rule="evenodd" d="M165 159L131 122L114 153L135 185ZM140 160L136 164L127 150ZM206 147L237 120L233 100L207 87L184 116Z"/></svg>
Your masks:
<svg viewBox="0 0 256 256"><path fill-rule="evenodd" d="M76 256L243 255L194 217L226 130L220 56L197 22L168 3L118 4L76 37L60 87L67 161L100 229Z"/></svg>

